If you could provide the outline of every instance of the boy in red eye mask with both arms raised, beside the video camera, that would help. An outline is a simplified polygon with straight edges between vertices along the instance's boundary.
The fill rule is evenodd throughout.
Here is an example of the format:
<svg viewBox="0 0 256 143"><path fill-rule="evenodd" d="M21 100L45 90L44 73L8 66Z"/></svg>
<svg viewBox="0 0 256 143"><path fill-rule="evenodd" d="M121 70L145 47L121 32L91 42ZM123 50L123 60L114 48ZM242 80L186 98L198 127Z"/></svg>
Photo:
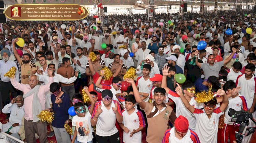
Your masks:
<svg viewBox="0 0 256 143"><path fill-rule="evenodd" d="M194 108L189 104L186 97L183 96L183 90L180 85L177 84L175 89L178 95L180 95L184 106L194 114L196 118L196 133L202 143L217 143L217 132L219 117L223 114L228 106L228 97L224 90L218 89L216 92L218 95L223 96L222 105L215 109L217 100L212 100L204 103L204 109Z"/></svg>

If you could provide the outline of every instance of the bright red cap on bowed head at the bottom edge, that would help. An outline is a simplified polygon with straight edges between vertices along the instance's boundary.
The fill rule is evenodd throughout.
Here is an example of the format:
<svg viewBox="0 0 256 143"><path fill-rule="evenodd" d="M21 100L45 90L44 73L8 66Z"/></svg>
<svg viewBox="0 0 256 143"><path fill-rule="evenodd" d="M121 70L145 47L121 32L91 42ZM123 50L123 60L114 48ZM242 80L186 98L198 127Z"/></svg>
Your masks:
<svg viewBox="0 0 256 143"><path fill-rule="evenodd" d="M176 130L181 133L185 133L188 130L188 120L182 115L180 115L177 119L175 119L174 125Z"/></svg>

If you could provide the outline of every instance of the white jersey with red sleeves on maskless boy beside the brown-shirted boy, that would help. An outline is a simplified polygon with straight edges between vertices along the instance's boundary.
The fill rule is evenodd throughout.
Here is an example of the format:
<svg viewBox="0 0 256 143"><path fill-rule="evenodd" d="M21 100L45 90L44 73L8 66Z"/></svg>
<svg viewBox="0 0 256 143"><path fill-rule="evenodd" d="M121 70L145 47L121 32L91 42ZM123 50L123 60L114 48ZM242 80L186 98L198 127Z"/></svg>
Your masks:
<svg viewBox="0 0 256 143"><path fill-rule="evenodd" d="M139 127L145 127L145 120L141 111L135 109L130 115L126 110L122 110L123 124L130 131L138 129ZM141 131L135 133L130 137L130 132L123 135L123 141L125 143L141 143Z"/></svg>

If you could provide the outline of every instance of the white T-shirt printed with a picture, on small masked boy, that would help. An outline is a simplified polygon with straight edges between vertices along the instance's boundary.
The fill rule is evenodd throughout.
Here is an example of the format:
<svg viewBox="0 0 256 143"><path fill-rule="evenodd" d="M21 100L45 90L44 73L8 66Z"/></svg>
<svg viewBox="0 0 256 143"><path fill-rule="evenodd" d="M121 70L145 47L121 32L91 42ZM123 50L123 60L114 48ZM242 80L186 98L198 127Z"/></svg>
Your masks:
<svg viewBox="0 0 256 143"><path fill-rule="evenodd" d="M82 126L82 128L80 127ZM85 113L85 117L78 117L75 115L72 119L72 126L75 126L77 131L77 141L79 142L89 142L93 140L93 129L91 128L91 114L89 112ZM83 130L86 130L85 132ZM83 131L83 132L80 132Z"/></svg>

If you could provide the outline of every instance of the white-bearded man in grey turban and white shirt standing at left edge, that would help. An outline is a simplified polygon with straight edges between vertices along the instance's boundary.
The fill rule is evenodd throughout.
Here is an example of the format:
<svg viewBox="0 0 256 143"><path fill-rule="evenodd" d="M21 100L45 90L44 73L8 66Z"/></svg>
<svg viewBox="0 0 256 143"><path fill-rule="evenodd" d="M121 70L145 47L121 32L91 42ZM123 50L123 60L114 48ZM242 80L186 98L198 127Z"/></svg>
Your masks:
<svg viewBox="0 0 256 143"><path fill-rule="evenodd" d="M1 98L0 98L0 109L3 108L3 105L7 105L10 103L9 99L9 93L16 97L17 92L15 91L15 88L12 86L10 82L10 78L4 76L6 72L8 72L12 67L17 68L17 65L14 61L9 60L9 57L11 56L11 53L8 49L3 49L1 51L1 56L3 60L0 60L0 75L1 75L1 85L0 85L0 92L1 92ZM16 81L19 81L19 71L16 70L15 72L15 79Z"/></svg>

